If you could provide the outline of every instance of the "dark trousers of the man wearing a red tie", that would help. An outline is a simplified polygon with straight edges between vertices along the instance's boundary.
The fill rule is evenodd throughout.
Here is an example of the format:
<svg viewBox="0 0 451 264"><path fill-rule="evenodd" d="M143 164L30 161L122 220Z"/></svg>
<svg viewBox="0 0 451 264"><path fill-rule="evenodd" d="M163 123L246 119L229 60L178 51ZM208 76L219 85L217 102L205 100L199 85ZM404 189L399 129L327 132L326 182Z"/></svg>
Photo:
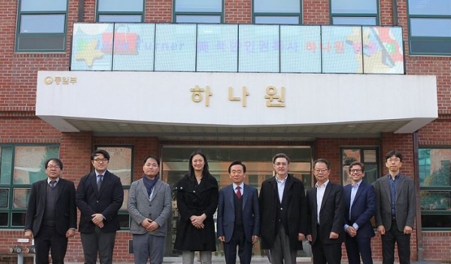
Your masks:
<svg viewBox="0 0 451 264"><path fill-rule="evenodd" d="M238 256L241 264L250 264L252 258L252 242L247 241L243 230L233 230L230 241L224 243L224 257L227 264L235 264Z"/></svg>

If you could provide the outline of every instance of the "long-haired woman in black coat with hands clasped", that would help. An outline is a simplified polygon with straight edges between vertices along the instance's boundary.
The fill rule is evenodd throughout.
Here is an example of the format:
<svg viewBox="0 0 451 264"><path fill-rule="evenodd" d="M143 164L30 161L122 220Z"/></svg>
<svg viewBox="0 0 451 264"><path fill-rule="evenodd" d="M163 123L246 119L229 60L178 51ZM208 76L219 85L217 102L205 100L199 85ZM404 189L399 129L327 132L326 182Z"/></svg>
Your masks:
<svg viewBox="0 0 451 264"><path fill-rule="evenodd" d="M183 251L183 264L194 263L194 251L200 251L201 263L211 263L216 251L213 215L218 207L218 181L211 176L204 153L190 156L190 172L177 183L177 225L174 249Z"/></svg>

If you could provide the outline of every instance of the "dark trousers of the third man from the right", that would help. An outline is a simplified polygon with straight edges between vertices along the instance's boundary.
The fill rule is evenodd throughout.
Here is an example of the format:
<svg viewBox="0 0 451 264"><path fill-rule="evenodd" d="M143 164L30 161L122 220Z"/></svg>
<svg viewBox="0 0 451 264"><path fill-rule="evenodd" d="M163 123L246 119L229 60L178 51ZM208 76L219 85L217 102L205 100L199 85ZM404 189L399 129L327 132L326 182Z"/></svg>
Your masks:
<svg viewBox="0 0 451 264"><path fill-rule="evenodd" d="M318 227L317 237L314 244L311 245L314 264L340 264L341 261L341 243L324 244L321 241L321 230Z"/></svg>

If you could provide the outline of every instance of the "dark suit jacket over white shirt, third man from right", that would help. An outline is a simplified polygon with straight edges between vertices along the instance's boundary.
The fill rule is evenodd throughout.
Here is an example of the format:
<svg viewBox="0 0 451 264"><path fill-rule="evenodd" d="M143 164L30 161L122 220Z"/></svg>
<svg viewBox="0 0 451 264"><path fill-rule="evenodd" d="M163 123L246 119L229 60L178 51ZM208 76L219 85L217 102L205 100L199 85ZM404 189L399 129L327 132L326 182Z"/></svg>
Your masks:
<svg viewBox="0 0 451 264"><path fill-rule="evenodd" d="M311 234L311 244L314 244L318 237L316 230L317 214L319 213L321 230L321 241L323 244L342 243L345 231L343 230L343 219L345 218L345 203L342 199L343 187L340 184L328 182L324 191L321 208L316 205L316 188L307 191L307 214L308 226ZM337 233L338 239L329 239L330 232Z"/></svg>

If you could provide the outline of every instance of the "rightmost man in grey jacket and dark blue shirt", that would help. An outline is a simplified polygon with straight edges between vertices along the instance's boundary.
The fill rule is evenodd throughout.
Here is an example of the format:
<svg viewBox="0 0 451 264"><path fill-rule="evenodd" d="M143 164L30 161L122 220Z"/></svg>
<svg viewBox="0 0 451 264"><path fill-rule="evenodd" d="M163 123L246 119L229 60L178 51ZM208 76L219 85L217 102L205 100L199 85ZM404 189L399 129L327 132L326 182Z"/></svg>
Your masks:
<svg viewBox="0 0 451 264"><path fill-rule="evenodd" d="M410 236L416 214L416 191L412 178L401 174L402 153L385 154L388 175L374 182L376 225L382 240L382 263L395 262L395 242L400 264L410 263Z"/></svg>

